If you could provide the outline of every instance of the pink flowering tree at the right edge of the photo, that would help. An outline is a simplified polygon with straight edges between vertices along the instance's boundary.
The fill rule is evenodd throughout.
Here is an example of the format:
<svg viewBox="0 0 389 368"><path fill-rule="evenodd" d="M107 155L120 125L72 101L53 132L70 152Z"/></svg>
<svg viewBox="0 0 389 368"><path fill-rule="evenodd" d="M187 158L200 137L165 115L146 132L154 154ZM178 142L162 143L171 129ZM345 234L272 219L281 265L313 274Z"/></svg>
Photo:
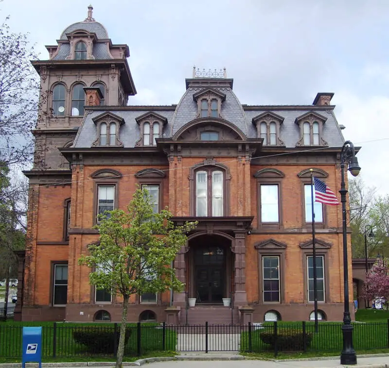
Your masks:
<svg viewBox="0 0 389 368"><path fill-rule="evenodd" d="M377 297L389 300L389 268L381 258L377 259L367 273L363 284L363 298L373 300Z"/></svg>

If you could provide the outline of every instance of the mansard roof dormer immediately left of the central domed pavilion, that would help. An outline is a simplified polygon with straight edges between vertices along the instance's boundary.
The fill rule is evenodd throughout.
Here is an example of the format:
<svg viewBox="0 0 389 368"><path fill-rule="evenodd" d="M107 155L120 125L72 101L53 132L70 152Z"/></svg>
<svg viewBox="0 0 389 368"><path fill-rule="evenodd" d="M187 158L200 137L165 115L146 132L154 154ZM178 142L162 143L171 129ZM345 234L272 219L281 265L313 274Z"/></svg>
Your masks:
<svg viewBox="0 0 389 368"><path fill-rule="evenodd" d="M149 112L135 120L141 129L141 139L136 146L157 146L157 139L162 136L163 125L167 123L166 117Z"/></svg>

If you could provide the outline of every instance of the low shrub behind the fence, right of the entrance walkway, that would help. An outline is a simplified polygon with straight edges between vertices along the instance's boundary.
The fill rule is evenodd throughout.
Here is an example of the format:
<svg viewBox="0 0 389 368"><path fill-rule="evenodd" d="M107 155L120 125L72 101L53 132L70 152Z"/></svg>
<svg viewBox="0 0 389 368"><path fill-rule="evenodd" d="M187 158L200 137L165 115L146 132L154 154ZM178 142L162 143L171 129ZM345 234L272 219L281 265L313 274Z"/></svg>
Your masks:
<svg viewBox="0 0 389 368"><path fill-rule="evenodd" d="M269 344L273 349L277 341L279 351L300 351L304 350L304 334L300 331L279 331L277 336L272 333L263 332L260 334L261 340ZM305 347L311 345L312 335L305 333Z"/></svg>

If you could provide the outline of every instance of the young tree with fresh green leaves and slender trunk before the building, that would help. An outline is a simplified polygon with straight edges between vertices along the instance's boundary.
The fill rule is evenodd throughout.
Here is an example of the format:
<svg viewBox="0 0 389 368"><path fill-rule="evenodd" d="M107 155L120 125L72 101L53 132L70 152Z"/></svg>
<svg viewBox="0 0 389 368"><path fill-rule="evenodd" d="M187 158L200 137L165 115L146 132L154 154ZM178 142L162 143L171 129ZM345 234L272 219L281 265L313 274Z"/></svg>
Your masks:
<svg viewBox="0 0 389 368"><path fill-rule="evenodd" d="M196 223L175 226L171 217L167 209L153 213L148 192L137 189L127 212L107 211L100 217L97 225L100 239L88 246L88 255L79 259L80 265L94 270L89 275L90 284L123 298L116 368L120 368L123 362L130 295L183 287L171 264L179 249L186 244L186 233L194 229Z"/></svg>

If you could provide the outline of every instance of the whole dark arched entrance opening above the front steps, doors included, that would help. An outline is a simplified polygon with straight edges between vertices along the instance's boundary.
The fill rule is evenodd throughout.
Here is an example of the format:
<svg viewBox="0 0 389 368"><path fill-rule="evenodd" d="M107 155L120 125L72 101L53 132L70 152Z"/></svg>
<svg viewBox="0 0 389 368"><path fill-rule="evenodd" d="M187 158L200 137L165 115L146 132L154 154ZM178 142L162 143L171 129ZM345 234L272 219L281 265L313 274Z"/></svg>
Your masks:
<svg viewBox="0 0 389 368"><path fill-rule="evenodd" d="M189 240L189 287L197 304L221 304L232 291L231 241L220 235L200 235Z"/></svg>

